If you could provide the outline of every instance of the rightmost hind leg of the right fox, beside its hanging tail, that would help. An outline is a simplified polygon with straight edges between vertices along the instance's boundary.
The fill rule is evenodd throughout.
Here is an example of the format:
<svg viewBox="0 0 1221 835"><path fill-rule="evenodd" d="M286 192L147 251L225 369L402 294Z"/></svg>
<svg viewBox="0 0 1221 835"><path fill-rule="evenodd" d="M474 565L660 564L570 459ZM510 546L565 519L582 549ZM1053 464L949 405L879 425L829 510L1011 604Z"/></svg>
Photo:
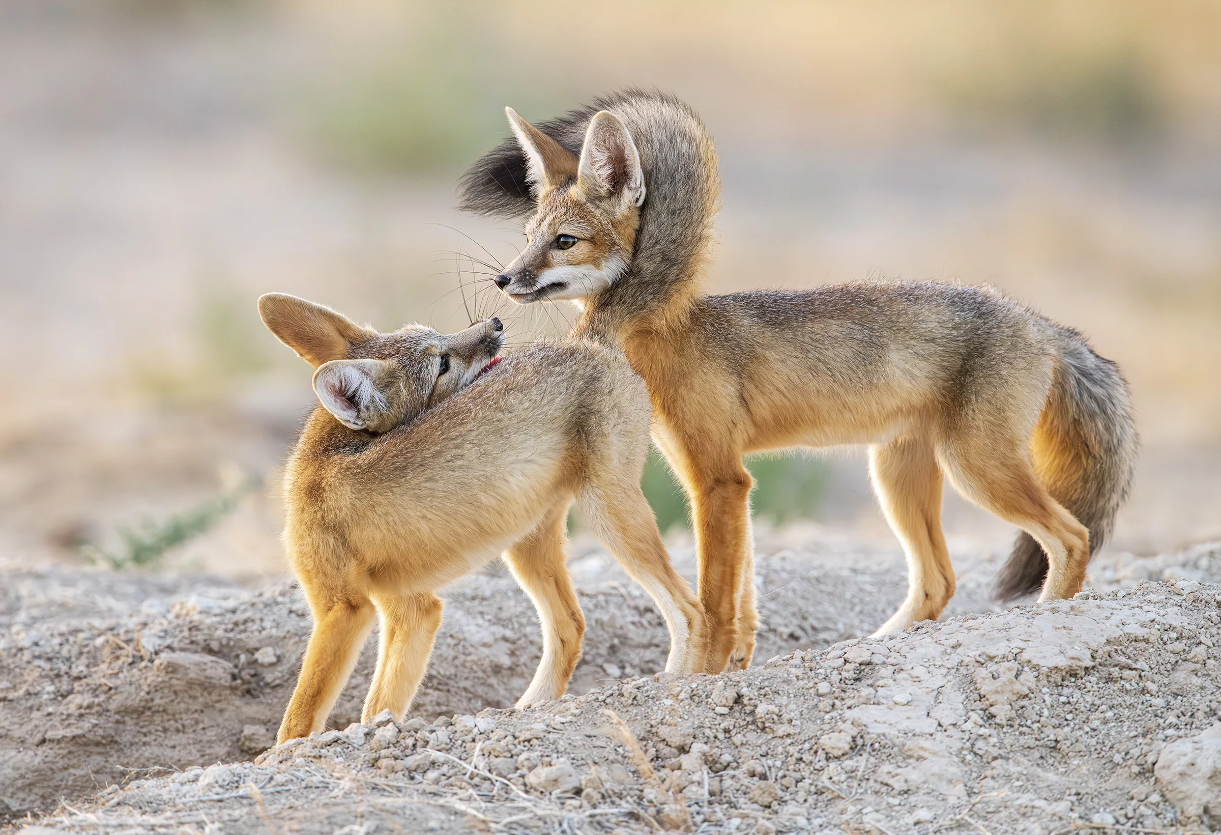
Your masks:
<svg viewBox="0 0 1221 835"><path fill-rule="evenodd" d="M939 460L965 497L1029 533L1048 555L1039 601L1068 599L1089 566L1089 531L1051 498L1031 465L1026 441L945 444Z"/></svg>

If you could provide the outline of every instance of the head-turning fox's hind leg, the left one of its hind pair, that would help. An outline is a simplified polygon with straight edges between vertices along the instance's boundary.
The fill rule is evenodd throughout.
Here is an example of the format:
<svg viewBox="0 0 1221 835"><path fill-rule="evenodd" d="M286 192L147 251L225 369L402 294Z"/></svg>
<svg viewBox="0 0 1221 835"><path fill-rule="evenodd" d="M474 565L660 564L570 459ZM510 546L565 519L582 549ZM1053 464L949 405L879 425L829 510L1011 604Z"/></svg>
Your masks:
<svg viewBox="0 0 1221 835"><path fill-rule="evenodd" d="M518 708L559 698L581 657L585 615L564 564L568 502L552 508L520 542L504 552L518 584L534 601L542 623L542 659Z"/></svg>

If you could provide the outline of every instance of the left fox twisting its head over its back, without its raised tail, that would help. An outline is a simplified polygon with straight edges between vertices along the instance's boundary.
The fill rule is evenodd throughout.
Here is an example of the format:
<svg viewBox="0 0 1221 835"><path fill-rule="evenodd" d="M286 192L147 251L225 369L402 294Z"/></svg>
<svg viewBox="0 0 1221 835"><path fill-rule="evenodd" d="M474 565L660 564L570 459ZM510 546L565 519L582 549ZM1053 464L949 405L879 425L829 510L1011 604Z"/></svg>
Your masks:
<svg viewBox="0 0 1221 835"><path fill-rule="evenodd" d="M621 355L570 338L502 356L496 317L381 333L281 293L259 315L314 366L317 397L284 471L283 543L314 629L278 742L322 730L375 620L361 719L402 719L441 624L436 590L497 555L542 623L516 707L559 698L585 631L564 553L574 498L661 609L667 671L703 669L703 612L640 487L648 392Z"/></svg>

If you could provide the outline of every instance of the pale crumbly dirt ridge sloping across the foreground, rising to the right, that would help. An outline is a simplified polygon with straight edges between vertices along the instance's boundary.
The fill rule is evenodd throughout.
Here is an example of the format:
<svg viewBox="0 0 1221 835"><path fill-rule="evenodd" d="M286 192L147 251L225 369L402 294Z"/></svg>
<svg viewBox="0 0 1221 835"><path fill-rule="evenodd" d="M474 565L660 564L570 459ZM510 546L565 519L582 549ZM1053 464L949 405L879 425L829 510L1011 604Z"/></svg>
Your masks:
<svg viewBox="0 0 1221 835"><path fill-rule="evenodd" d="M1219 763L1200 756L1221 732L1219 592L1142 584L526 712L383 715L111 787L40 825L1192 831L1221 823Z"/></svg>

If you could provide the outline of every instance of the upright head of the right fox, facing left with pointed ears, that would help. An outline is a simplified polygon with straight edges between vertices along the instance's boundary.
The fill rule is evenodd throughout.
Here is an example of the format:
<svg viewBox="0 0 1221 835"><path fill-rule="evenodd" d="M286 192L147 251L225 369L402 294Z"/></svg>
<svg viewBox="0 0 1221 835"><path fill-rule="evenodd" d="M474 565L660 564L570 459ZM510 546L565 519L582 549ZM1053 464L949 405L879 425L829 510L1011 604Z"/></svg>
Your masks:
<svg viewBox="0 0 1221 835"><path fill-rule="evenodd" d="M590 120L580 157L505 107L538 208L496 286L520 304L587 299L619 278L636 242L645 175L618 116Z"/></svg>

